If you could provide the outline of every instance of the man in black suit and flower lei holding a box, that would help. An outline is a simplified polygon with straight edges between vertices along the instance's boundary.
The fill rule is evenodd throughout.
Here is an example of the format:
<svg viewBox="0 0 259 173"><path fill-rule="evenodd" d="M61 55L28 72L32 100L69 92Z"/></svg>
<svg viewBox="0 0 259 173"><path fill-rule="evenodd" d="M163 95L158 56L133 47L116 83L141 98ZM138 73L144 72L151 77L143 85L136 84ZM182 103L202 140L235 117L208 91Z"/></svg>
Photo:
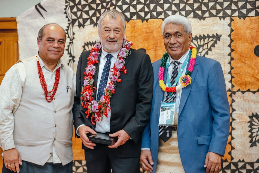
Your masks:
<svg viewBox="0 0 259 173"><path fill-rule="evenodd" d="M88 173L139 173L141 133L149 121L153 94L151 60L130 48L120 12L103 13L98 27L100 42L78 62L76 135L83 142ZM103 76L109 78L105 81ZM96 132L118 140L113 145L90 142L89 134Z"/></svg>

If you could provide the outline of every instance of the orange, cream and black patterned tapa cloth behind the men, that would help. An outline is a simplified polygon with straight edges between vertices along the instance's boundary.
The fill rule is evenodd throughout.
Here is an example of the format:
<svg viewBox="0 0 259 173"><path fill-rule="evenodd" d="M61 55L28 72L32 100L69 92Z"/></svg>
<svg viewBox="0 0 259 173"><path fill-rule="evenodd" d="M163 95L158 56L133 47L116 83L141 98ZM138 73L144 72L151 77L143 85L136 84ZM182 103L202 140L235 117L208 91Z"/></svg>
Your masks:
<svg viewBox="0 0 259 173"><path fill-rule="evenodd" d="M190 19L191 46L224 71L231 127L221 172L259 172L259 0L43 0L17 17L20 59L36 54L38 30L56 22L67 33L62 60L76 71L81 52L99 39L97 22L108 9L125 15L132 48L146 51L152 62L165 52L163 19ZM73 171L87 172L80 139L73 138L73 152Z"/></svg>

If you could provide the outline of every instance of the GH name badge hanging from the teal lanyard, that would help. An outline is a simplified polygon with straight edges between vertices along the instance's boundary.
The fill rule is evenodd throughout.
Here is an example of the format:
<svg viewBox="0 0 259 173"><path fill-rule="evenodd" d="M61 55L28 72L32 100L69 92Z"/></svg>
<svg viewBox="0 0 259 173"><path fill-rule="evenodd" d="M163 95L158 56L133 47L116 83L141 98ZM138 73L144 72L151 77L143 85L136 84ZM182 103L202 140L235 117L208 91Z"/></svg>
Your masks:
<svg viewBox="0 0 259 173"><path fill-rule="evenodd" d="M175 102L161 102L159 114L159 126L174 125Z"/></svg>

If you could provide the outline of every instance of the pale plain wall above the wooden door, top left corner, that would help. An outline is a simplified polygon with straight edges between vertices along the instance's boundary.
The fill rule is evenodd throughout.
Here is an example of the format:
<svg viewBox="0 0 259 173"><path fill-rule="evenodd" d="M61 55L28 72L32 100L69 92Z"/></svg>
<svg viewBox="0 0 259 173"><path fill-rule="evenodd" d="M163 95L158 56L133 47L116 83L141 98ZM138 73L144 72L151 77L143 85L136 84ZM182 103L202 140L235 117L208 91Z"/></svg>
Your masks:
<svg viewBox="0 0 259 173"><path fill-rule="evenodd" d="M17 17L42 0L0 0L0 17Z"/></svg>

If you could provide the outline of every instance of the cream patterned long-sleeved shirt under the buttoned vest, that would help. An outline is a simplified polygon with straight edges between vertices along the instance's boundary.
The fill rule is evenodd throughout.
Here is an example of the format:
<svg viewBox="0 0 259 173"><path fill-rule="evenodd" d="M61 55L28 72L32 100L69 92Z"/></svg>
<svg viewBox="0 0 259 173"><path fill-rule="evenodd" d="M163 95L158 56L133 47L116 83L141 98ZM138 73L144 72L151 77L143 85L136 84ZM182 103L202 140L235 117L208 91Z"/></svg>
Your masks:
<svg viewBox="0 0 259 173"><path fill-rule="evenodd" d="M37 56L39 57L38 53ZM38 58L44 78L47 84L47 90L51 91L55 82L56 70L62 66L62 61L59 60L56 68L49 70ZM14 131L14 116L13 113L17 110L23 87L26 80L26 71L22 62L12 66L5 74L5 77L0 85L0 147L3 150L15 148L13 131ZM73 75L73 83L75 85L76 78ZM40 85L40 84L39 84ZM32 96L33 97L33 96ZM44 109L44 108L43 108ZM29 128L29 127L28 127ZM47 162L61 163L53 143L53 154Z"/></svg>

